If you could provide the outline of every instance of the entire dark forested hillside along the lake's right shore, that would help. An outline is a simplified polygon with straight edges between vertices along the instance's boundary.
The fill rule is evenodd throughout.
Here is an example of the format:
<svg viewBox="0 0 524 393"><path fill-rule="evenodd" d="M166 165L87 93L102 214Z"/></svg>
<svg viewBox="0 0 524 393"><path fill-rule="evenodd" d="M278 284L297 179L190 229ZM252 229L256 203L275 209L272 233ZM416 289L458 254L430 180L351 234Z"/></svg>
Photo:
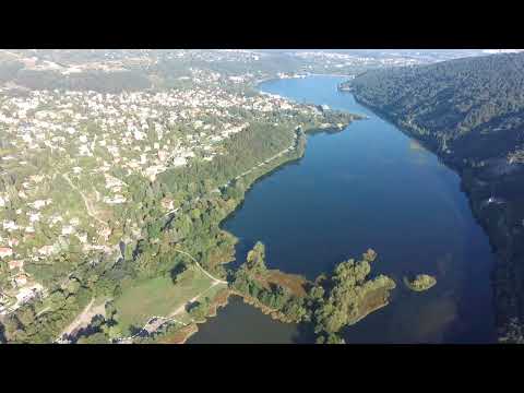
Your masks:
<svg viewBox="0 0 524 393"><path fill-rule="evenodd" d="M519 341L524 321L523 70L523 53L496 55L372 71L350 84L357 100L460 172L498 257L497 327L505 342Z"/></svg>

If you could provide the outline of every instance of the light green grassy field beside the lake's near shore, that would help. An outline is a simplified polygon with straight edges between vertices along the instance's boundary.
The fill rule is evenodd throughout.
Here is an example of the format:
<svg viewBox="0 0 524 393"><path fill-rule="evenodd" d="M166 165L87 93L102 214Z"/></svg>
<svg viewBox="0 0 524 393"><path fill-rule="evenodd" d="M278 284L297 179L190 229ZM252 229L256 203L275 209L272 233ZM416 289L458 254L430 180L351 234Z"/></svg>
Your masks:
<svg viewBox="0 0 524 393"><path fill-rule="evenodd" d="M167 317L190 299L211 287L212 281L198 267L193 269L191 279L180 284L172 284L167 276L142 281L126 288L116 299L119 325L122 333L129 333L129 327L142 327L153 315ZM224 288L218 284L204 294L203 297L212 298L217 290ZM183 314L180 315L183 319Z"/></svg>

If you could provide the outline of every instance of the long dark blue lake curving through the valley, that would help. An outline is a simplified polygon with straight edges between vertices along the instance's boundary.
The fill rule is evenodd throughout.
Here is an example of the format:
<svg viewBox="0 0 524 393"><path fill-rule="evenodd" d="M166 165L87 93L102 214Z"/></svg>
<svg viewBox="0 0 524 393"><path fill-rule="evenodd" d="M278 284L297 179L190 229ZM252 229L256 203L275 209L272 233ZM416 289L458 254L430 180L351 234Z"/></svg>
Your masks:
<svg viewBox="0 0 524 393"><path fill-rule="evenodd" d="M368 248L372 274L397 284L391 303L345 329L347 343L488 343L495 340L487 236L458 176L395 126L337 92L334 76L276 80L263 92L369 116L336 134L308 136L306 155L257 182L223 227L246 258L257 240L271 269L314 278ZM403 276L437 285L413 293ZM234 300L190 343L295 343L309 329L273 321ZM306 332L306 333L305 333Z"/></svg>

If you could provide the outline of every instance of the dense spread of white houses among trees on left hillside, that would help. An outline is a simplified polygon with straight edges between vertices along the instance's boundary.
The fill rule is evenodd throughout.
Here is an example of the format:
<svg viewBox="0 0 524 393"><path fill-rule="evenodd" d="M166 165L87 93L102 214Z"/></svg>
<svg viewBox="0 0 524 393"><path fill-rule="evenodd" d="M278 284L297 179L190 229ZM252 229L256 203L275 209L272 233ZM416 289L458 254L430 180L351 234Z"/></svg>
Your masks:
<svg viewBox="0 0 524 393"><path fill-rule="evenodd" d="M155 181L168 168L213 160L224 154L223 141L253 120L273 119L274 111L315 112L278 96L236 93L217 82L216 72L191 71L191 87L156 93L31 91L0 97L0 139L7 152L0 160L8 174L26 177L17 189L0 189L0 260L8 263L15 305L43 290L25 273L24 261L48 259L74 238L86 252L112 250L107 245L111 228L100 226L104 218L97 214L132 209L130 175ZM20 170L35 156L56 162L31 175ZM57 181L68 191L52 193ZM78 201L75 211L69 209L71 199ZM174 210L172 202L163 205ZM140 223L128 224L133 236L141 236ZM41 227L58 238L26 247Z"/></svg>

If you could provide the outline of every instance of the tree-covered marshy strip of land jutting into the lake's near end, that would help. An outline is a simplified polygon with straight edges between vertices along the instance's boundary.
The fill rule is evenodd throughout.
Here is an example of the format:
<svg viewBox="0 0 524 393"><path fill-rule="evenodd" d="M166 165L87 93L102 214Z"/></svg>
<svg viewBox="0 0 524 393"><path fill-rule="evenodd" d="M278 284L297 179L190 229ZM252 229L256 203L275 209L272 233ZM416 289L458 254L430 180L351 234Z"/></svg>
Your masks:
<svg viewBox="0 0 524 393"><path fill-rule="evenodd" d="M381 274L369 278L377 258L369 249L360 260L341 262L331 274L320 274L310 282L269 270L265 246L258 241L235 272L230 291L281 322L312 323L318 344L343 344L340 332L388 306L396 286Z"/></svg>

